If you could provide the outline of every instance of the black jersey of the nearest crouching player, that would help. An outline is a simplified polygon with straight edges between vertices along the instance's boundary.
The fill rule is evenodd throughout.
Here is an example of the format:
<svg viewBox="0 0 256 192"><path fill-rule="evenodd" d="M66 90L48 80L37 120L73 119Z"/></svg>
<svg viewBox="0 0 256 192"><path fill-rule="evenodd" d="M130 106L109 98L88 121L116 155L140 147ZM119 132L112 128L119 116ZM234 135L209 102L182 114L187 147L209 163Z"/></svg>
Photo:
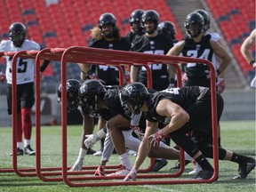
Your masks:
<svg viewBox="0 0 256 192"><path fill-rule="evenodd" d="M189 115L189 121L184 127L189 131L199 130L210 133L212 130L212 100L211 90L208 87L185 86L181 88L166 89L159 93L148 96L145 113L146 119L151 122L166 122L166 116L159 116L156 113L156 106L160 100L172 100L172 102L183 108ZM217 119L223 111L223 99L217 93ZM168 119L168 118L167 118ZM170 120L170 119L169 119Z"/></svg>

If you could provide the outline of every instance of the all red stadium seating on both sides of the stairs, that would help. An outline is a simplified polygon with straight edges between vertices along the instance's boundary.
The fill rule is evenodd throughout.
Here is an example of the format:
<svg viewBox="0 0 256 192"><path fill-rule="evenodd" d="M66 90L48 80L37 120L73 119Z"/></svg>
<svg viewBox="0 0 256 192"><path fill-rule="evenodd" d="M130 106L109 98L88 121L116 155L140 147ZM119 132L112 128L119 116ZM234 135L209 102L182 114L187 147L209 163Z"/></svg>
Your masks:
<svg viewBox="0 0 256 192"><path fill-rule="evenodd" d="M239 49L244 37L249 35L252 27L255 28L255 11L251 10L252 6L248 6L253 4L253 1L206 1L244 74L252 68L243 59ZM116 25L121 29L121 35L125 36L130 30L130 14L138 8L156 10L160 14L160 20L172 20L176 25L177 39L183 36L170 7L164 0L150 2L148 0L0 0L0 4L1 39L8 39L10 24L20 21L27 26L28 38L35 40L42 47L86 46L90 38L90 29L97 26L100 14L103 12L112 12L116 15ZM3 59L0 60L0 67L3 68L1 63L4 64ZM68 77L79 78L79 76L79 68L74 64L68 65ZM45 92L55 92L55 84L59 82L60 62L52 62L44 72L42 91L44 92L44 84L45 86L54 84L50 90L47 90L49 87L45 87Z"/></svg>

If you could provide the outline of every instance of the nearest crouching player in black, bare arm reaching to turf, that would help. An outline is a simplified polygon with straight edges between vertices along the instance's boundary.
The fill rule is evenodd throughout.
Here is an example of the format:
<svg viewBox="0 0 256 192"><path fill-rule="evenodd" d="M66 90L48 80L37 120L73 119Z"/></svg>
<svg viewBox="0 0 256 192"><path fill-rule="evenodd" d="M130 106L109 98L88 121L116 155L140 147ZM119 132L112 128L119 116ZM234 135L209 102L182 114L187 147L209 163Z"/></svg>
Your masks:
<svg viewBox="0 0 256 192"><path fill-rule="evenodd" d="M223 111L223 99L216 95L218 122ZM148 155L151 146L158 146L164 136L170 134L172 140L192 156L202 167L196 179L212 178L213 168L205 157L212 158L212 104L211 89L200 86L185 86L149 93L144 84L127 84L120 93L120 100L133 114L144 112L147 129L132 171L124 180L136 180L137 171ZM170 119L170 123L157 131L158 121ZM188 132L196 130L203 136L196 144ZM255 167L255 159L241 156L219 147L219 159L235 162L239 165L238 175L234 179L244 179ZM203 155L204 154L204 155Z"/></svg>

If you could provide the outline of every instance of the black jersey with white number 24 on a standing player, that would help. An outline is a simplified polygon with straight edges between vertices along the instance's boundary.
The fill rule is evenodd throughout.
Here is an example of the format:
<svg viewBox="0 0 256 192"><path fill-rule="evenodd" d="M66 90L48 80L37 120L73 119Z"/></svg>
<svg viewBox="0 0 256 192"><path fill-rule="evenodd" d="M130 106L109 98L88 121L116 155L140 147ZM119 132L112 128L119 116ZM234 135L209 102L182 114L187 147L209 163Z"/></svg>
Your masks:
<svg viewBox="0 0 256 192"><path fill-rule="evenodd" d="M182 50L182 55L185 57L200 58L212 61L213 50L210 44L211 36L202 36L200 42L196 43L191 38L185 39L185 45ZM206 64L188 63L186 66L187 76L207 76L210 72Z"/></svg>

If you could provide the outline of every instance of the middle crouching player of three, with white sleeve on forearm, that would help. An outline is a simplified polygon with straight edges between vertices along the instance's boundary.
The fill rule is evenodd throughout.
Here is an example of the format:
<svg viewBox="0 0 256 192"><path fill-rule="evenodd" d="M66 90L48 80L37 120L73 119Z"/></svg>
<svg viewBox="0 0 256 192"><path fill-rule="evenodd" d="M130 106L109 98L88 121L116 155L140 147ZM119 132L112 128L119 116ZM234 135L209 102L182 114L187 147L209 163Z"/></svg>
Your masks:
<svg viewBox="0 0 256 192"><path fill-rule="evenodd" d="M126 152L126 148L138 151L140 140L143 138L143 134L137 126L138 122L137 124L134 123L134 121L131 123L131 112L124 111L124 108L121 106L119 93L122 91L122 88L122 86L103 86L97 80L88 80L81 85L78 93L83 108L86 108L91 115L96 116L98 114L107 121L106 127L108 128L108 134L113 141L122 164L120 170L110 173L108 176L125 176L130 172L132 164ZM137 115L140 115L140 113ZM136 119L138 120L138 117L136 117ZM132 120L134 120L134 116L132 116ZM138 135L140 140L132 137L131 124L133 125L132 130ZM104 166L108 162L109 156L112 154L113 144L110 137L107 137L105 140L106 146L104 145L101 164L95 172L96 175L104 174ZM148 156L179 159L180 152L161 142L160 148L151 148ZM185 156L190 160L192 159L190 156Z"/></svg>

